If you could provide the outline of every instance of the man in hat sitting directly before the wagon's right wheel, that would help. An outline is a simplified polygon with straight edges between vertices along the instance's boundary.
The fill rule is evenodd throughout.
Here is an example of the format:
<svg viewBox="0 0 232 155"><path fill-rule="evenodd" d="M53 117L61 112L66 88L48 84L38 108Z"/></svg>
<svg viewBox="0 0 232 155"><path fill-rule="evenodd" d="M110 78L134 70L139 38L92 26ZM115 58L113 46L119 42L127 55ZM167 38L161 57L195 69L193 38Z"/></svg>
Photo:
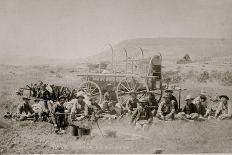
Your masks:
<svg viewBox="0 0 232 155"><path fill-rule="evenodd" d="M136 110L139 104L139 100L137 98L136 92L132 91L129 93L129 95L130 95L130 99L126 103L126 108L127 108L128 115L131 115Z"/></svg>

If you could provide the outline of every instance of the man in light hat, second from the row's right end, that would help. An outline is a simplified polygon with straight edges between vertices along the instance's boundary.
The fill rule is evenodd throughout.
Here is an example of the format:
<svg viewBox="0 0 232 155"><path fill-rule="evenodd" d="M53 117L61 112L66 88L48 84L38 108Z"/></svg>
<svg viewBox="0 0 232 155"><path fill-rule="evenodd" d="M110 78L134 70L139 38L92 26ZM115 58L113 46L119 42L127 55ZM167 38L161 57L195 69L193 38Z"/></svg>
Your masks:
<svg viewBox="0 0 232 155"><path fill-rule="evenodd" d="M207 93L205 90L201 90L200 95L193 100L193 104L197 107L197 113L200 118L206 118L210 115L211 108L209 107Z"/></svg>

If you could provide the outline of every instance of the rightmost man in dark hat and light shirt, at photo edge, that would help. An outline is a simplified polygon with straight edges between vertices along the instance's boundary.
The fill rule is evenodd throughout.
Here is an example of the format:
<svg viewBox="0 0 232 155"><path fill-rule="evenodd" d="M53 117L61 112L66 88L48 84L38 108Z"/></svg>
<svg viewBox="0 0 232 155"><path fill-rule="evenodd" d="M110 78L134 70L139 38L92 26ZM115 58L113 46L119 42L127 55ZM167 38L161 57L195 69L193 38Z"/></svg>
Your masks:
<svg viewBox="0 0 232 155"><path fill-rule="evenodd" d="M218 105L218 108L215 113L215 118L219 120L230 119L232 117L231 104L228 102L229 97L226 95L219 96L221 102Z"/></svg>

